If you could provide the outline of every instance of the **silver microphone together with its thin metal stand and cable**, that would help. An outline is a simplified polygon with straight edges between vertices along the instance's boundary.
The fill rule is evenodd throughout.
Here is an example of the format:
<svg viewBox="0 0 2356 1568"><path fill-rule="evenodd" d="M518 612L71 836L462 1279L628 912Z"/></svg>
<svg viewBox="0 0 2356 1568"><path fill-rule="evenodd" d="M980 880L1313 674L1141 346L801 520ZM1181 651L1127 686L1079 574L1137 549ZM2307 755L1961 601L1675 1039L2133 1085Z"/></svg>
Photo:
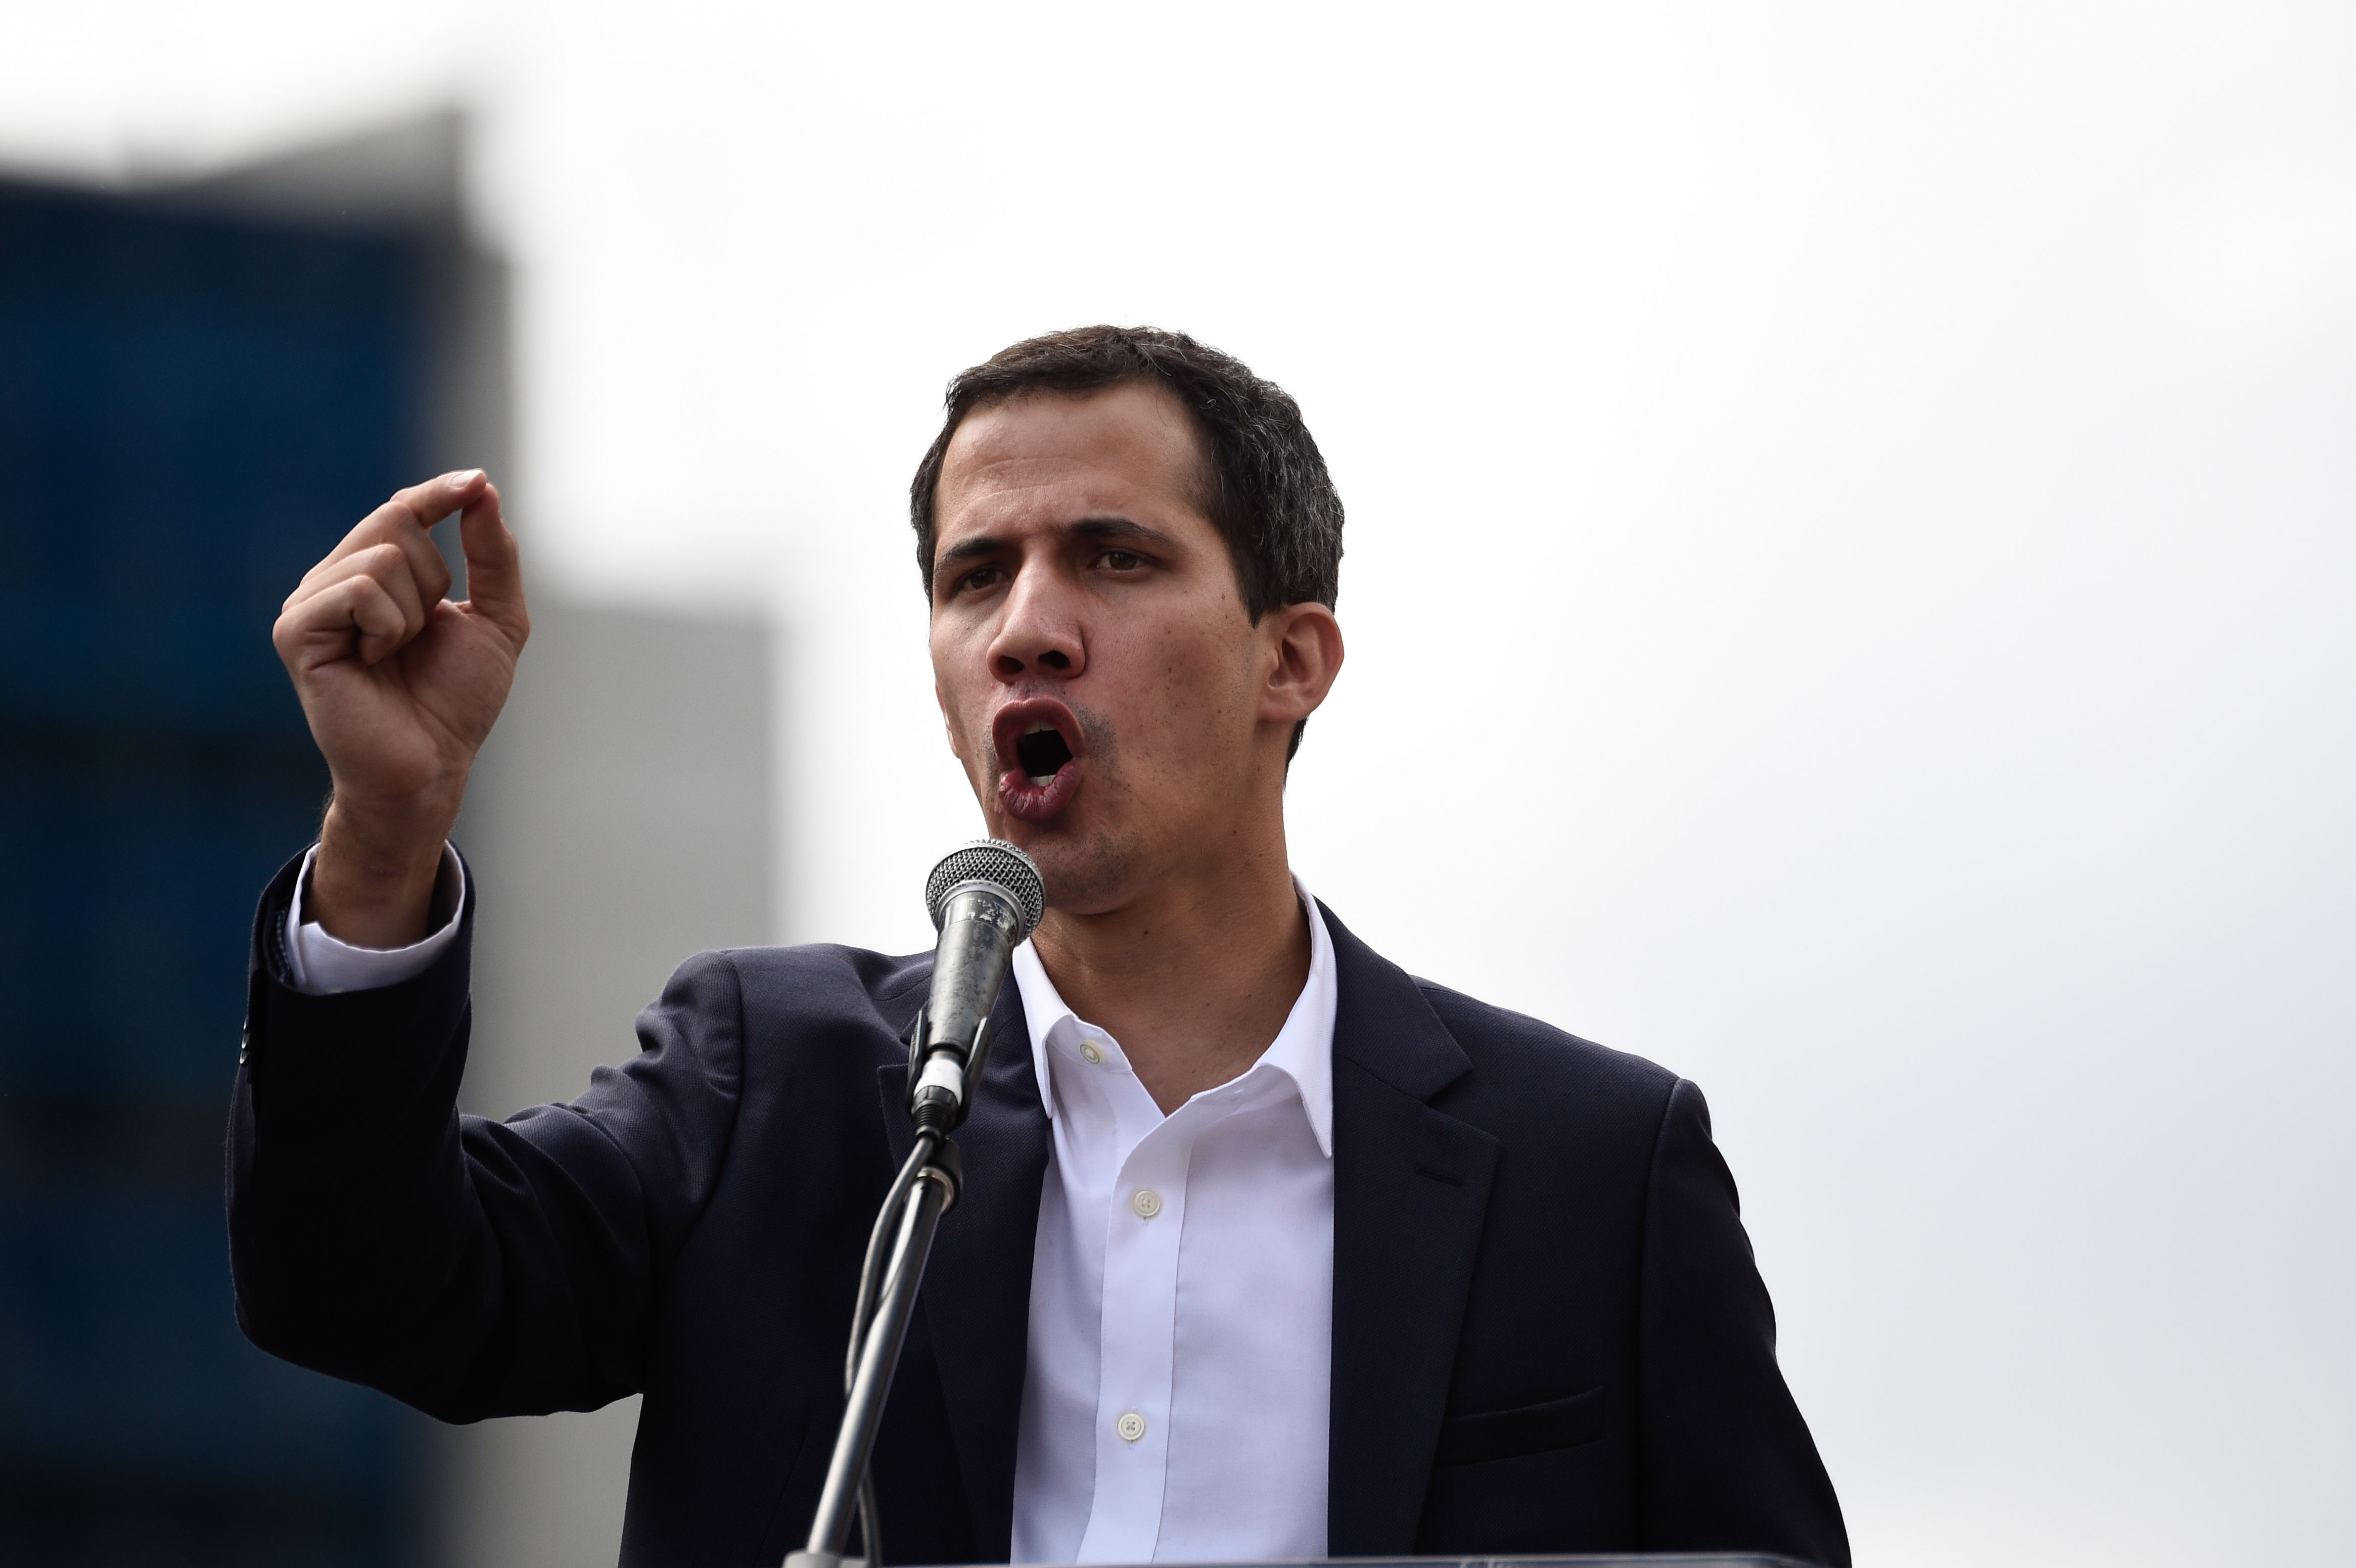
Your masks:
<svg viewBox="0 0 2356 1568"><path fill-rule="evenodd" d="M985 838L952 850L933 866L924 902L940 944L933 949L933 991L907 1048L907 1109L916 1140L867 1236L867 1262L851 1309L851 1349L843 1356L843 1424L834 1434L834 1460L818 1493L810 1542L785 1559L787 1568L841 1568L853 1507L865 1563L874 1568L884 1561L867 1460L884 1424L884 1398L907 1342L933 1231L957 1203L961 1165L949 1132L973 1107L973 1085L990 1062L990 1010L1006 984L1015 946L1046 913L1046 885L1030 855Z"/></svg>

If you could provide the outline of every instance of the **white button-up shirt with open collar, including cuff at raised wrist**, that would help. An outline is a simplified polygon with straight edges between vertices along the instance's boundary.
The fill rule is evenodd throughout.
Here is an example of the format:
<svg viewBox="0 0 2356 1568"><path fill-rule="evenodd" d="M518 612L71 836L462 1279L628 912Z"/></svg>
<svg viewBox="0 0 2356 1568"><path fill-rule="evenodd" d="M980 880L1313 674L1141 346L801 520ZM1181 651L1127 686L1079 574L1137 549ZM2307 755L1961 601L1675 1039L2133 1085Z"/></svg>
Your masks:
<svg viewBox="0 0 2356 1568"><path fill-rule="evenodd" d="M297 991L398 984L457 937L450 918L403 949L351 946L304 918L309 881L304 859L285 930ZM1333 939L1293 885L1310 977L1284 1029L1251 1069L1169 1116L1119 1041L1063 1003L1032 944L1015 949L1053 1128L1015 1441L1018 1563L1326 1552Z"/></svg>

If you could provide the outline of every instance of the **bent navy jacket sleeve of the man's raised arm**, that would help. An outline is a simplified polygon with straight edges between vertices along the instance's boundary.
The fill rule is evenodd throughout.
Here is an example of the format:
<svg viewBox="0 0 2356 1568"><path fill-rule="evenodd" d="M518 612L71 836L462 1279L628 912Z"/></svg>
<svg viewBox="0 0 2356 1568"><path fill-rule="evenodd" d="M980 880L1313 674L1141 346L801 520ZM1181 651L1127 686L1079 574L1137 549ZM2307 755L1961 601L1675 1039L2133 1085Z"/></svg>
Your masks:
<svg viewBox="0 0 2356 1568"><path fill-rule="evenodd" d="M577 1102L459 1116L474 878L429 970L304 996L283 954L299 864L254 918L229 1123L238 1326L443 1420L636 1391L660 1281L735 1128L735 965L683 965L638 1015L638 1057Z"/></svg>

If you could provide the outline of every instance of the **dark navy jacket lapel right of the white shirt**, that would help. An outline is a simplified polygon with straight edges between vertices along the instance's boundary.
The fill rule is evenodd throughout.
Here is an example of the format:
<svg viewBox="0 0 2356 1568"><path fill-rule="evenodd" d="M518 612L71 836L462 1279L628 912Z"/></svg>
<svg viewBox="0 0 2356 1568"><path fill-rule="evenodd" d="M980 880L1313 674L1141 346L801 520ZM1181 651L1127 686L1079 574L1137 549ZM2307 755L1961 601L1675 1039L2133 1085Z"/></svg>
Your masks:
<svg viewBox="0 0 2356 1568"><path fill-rule="evenodd" d="M1416 982L1324 918L1336 965L1326 1554L1407 1556L1498 1144L1428 1104L1472 1062Z"/></svg>

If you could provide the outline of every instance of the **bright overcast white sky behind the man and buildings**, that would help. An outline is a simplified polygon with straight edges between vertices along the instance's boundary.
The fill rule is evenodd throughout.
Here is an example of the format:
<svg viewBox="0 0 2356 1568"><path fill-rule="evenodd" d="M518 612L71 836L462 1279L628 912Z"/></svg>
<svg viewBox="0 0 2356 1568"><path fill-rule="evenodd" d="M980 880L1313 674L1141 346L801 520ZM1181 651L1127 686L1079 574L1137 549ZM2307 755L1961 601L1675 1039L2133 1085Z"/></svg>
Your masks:
<svg viewBox="0 0 2356 1568"><path fill-rule="evenodd" d="M2356 7L5 5L0 158L478 113L530 565L785 645L780 935L973 829L907 473L1084 320L1350 506L1296 866L1701 1081L1861 1563L2356 1542Z"/></svg>

